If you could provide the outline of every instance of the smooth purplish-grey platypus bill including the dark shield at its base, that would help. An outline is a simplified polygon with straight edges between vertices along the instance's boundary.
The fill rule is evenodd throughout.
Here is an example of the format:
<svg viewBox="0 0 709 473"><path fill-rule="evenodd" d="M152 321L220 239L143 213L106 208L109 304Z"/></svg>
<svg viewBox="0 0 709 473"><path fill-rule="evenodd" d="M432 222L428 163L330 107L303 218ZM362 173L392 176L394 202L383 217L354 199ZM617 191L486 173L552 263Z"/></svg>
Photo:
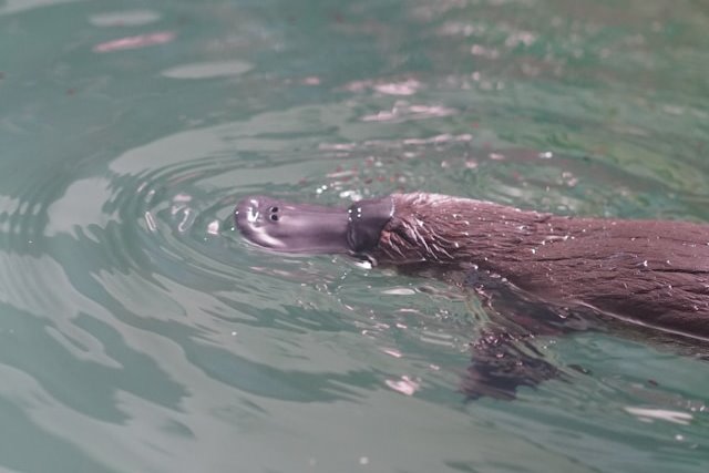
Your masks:
<svg viewBox="0 0 709 473"><path fill-rule="evenodd" d="M367 256L393 213L391 197L343 208L250 196L238 203L234 217L246 239L275 251Z"/></svg>

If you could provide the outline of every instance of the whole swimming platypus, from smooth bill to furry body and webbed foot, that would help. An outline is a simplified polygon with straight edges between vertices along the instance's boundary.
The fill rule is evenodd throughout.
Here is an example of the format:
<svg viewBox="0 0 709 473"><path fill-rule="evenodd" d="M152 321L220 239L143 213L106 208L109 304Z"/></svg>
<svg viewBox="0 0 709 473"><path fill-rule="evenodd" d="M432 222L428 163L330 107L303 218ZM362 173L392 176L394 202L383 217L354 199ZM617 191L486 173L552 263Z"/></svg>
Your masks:
<svg viewBox="0 0 709 473"><path fill-rule="evenodd" d="M276 251L496 281L491 297L506 292L496 299L523 322L473 342L471 397L510 398L556 376L525 340L586 328L589 318L709 343L709 225L557 216L425 193L349 208L254 196L235 218L248 240Z"/></svg>

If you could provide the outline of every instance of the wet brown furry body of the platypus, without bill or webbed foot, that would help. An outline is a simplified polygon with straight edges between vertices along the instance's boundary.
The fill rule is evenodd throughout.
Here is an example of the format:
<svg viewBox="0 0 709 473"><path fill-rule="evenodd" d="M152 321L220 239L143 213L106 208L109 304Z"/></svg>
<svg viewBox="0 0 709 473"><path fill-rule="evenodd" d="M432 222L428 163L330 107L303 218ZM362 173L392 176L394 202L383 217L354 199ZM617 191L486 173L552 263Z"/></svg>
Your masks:
<svg viewBox="0 0 709 473"><path fill-rule="evenodd" d="M397 194L371 256L475 265L562 306L709 339L709 226L562 217L438 194Z"/></svg>

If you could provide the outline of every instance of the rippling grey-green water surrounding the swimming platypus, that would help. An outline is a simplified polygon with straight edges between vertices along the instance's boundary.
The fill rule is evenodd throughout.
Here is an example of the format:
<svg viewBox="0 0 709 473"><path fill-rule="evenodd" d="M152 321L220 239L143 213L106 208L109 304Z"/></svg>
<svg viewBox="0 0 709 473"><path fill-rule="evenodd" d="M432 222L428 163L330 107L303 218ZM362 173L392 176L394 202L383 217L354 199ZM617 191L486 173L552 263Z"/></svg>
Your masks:
<svg viewBox="0 0 709 473"><path fill-rule="evenodd" d="M709 364L615 333L458 391L470 295L260 253L250 193L709 220L700 1L0 1L0 467L705 472ZM578 364L582 374L566 367Z"/></svg>

